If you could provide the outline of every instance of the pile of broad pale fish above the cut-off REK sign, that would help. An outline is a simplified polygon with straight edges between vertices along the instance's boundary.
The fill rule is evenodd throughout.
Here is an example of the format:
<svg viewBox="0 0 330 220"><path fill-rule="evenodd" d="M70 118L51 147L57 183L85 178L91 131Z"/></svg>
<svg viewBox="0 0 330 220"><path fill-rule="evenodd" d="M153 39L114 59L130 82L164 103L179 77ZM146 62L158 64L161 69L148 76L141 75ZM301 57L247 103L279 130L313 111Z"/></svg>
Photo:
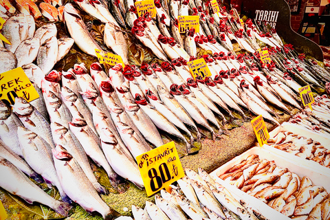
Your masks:
<svg viewBox="0 0 330 220"><path fill-rule="evenodd" d="M36 24L30 14L10 17L3 24L1 34L11 45L0 45L0 73L22 67L29 74L42 72L45 76L74 45L74 39L69 37L56 38L57 28L54 23L47 23L36 30ZM2 41L0 43L2 44Z"/></svg>

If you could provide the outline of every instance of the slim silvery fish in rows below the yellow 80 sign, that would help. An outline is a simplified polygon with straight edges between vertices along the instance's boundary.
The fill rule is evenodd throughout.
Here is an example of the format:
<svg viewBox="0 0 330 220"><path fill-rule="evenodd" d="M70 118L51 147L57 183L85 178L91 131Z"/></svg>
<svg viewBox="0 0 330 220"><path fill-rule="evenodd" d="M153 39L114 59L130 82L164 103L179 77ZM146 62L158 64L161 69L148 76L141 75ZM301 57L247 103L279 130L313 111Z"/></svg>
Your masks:
<svg viewBox="0 0 330 220"><path fill-rule="evenodd" d="M230 192L198 168L198 174L186 168L186 176L177 180L171 193L161 190L155 203L146 201L144 210L132 206L135 220L159 219L265 219L258 211L237 201Z"/></svg>

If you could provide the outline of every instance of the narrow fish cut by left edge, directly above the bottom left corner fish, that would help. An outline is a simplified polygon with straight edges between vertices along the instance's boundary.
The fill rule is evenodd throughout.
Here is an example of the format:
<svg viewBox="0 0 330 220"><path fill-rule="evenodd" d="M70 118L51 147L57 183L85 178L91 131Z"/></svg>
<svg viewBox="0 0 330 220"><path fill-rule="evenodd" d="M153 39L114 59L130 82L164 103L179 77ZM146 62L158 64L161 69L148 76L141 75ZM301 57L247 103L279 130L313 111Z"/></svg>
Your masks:
<svg viewBox="0 0 330 220"><path fill-rule="evenodd" d="M8 159L9 162L14 164L17 168L19 168L23 173L30 176L32 179L38 182L42 182L43 179L29 166L24 159L19 157L14 151L10 150L10 148L0 140L0 156Z"/></svg>

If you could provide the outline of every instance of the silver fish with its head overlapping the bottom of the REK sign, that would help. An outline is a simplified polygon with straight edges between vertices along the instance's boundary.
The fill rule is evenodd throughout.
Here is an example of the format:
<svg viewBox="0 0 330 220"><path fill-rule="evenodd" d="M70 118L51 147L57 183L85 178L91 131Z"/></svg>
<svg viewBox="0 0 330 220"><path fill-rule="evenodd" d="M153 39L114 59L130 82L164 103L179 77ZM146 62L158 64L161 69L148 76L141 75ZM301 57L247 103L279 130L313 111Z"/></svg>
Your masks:
<svg viewBox="0 0 330 220"><path fill-rule="evenodd" d="M27 129L36 133L39 137L42 137L47 144L54 148L55 145L52 138L50 124L45 118L43 118L43 115L41 115L39 111L37 111L25 99L20 97L15 98L15 104L12 108Z"/></svg>

